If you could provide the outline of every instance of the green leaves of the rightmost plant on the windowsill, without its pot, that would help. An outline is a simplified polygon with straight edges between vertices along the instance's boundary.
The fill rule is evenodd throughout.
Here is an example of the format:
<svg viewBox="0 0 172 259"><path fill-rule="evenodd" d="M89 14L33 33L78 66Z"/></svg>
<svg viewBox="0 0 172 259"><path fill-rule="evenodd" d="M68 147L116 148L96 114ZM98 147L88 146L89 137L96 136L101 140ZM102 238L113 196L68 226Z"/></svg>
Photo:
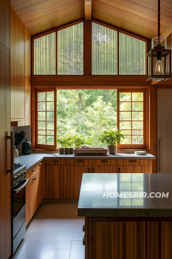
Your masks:
<svg viewBox="0 0 172 259"><path fill-rule="evenodd" d="M107 143L107 145L115 146L121 142L121 138L124 139L124 136L120 133L121 131L116 129L109 131L104 131L103 134L98 138L101 143Z"/></svg>

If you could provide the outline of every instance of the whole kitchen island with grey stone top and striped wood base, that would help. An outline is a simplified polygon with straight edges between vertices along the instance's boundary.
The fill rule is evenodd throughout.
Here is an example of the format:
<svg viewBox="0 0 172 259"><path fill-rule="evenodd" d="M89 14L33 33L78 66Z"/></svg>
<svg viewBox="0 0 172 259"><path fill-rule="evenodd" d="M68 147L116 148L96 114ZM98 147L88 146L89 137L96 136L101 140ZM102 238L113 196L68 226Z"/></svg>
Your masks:
<svg viewBox="0 0 172 259"><path fill-rule="evenodd" d="M83 174L85 259L171 259L171 186L172 174Z"/></svg>

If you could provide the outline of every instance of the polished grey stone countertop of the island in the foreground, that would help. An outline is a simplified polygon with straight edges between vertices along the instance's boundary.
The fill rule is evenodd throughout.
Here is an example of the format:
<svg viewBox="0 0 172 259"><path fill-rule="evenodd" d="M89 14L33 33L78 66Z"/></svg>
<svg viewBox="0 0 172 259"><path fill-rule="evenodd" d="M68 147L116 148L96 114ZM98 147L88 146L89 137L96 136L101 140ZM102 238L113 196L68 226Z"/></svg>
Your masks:
<svg viewBox="0 0 172 259"><path fill-rule="evenodd" d="M171 186L172 174L83 174L78 216L172 217ZM123 195L124 192L137 192L140 197L116 197L117 192L119 195L122 192ZM142 197L143 192L147 193L146 197ZM168 198L151 198L151 192L161 195L169 192L169 195ZM103 198L104 193L109 193L108 197Z"/></svg>

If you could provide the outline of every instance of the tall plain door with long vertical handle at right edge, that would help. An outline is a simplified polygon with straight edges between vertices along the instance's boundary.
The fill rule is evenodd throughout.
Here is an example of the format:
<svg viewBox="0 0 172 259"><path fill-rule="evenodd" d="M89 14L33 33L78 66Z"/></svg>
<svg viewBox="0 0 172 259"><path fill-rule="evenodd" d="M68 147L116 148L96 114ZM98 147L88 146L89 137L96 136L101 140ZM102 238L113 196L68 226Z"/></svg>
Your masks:
<svg viewBox="0 0 172 259"><path fill-rule="evenodd" d="M172 173L172 88L157 89L157 172Z"/></svg>

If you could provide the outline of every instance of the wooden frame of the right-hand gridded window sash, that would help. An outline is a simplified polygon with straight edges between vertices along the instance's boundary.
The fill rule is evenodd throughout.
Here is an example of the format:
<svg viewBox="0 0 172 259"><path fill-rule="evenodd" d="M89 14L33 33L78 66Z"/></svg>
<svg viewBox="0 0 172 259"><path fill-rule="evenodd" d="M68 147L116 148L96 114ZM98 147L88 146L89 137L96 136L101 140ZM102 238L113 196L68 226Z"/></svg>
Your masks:
<svg viewBox="0 0 172 259"><path fill-rule="evenodd" d="M134 92L142 92L143 93L143 144L118 144L117 148L118 150L121 149L127 149L127 150L147 150L148 149L148 93L147 90L142 89L136 89L136 88L119 88L117 89L117 128L120 129L120 92L122 93L134 93ZM132 108L131 108L132 112ZM132 121L132 120L131 120ZM132 131L132 127L131 127ZM132 135L131 135L132 136Z"/></svg>

